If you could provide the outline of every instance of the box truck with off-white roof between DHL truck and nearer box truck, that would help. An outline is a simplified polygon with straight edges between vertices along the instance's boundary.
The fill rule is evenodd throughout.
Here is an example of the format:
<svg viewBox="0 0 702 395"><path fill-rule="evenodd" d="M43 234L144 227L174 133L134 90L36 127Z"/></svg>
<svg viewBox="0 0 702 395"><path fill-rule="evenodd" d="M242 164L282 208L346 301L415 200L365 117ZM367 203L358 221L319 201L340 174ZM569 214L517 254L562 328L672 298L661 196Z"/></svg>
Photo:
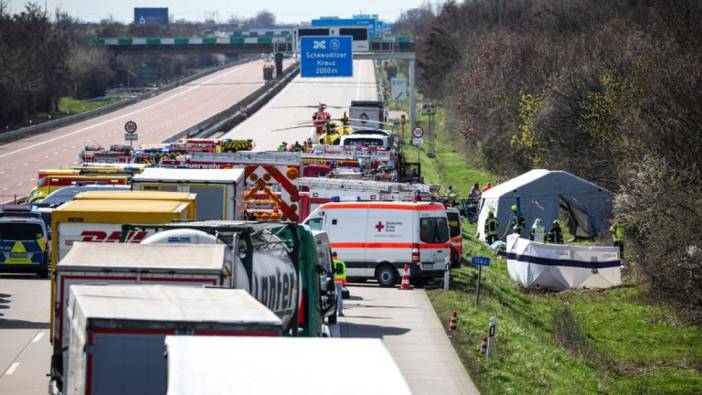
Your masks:
<svg viewBox="0 0 702 395"><path fill-rule="evenodd" d="M173 284L231 288L231 249L224 244L78 242L56 266L51 359L52 380L68 362L70 287L78 284Z"/></svg>

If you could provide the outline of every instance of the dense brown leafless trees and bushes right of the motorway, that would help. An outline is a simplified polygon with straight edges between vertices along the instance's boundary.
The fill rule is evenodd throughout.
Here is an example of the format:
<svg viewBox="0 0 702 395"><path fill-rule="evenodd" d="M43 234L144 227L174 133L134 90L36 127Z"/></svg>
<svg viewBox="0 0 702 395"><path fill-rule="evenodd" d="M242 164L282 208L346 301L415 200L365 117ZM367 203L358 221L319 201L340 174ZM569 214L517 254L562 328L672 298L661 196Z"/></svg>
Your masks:
<svg viewBox="0 0 702 395"><path fill-rule="evenodd" d="M615 192L636 277L700 313L702 1L449 1L395 29L467 157Z"/></svg>

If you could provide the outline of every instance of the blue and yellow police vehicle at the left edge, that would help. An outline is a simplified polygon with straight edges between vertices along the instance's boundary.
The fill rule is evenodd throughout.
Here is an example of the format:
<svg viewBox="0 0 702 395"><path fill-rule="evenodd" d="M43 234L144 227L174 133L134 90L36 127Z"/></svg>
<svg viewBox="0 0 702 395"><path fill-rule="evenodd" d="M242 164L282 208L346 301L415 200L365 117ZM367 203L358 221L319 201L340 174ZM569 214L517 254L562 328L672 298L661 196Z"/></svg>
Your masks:
<svg viewBox="0 0 702 395"><path fill-rule="evenodd" d="M49 274L49 237L39 212L29 206L0 207L0 272Z"/></svg>

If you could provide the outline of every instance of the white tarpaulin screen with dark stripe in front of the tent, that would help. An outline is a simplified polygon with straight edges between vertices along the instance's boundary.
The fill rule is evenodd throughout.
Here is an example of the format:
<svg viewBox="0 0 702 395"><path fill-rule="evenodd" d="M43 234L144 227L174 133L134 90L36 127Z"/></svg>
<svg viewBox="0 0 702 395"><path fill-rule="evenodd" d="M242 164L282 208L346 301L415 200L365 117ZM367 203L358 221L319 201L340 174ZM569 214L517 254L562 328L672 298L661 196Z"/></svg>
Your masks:
<svg viewBox="0 0 702 395"><path fill-rule="evenodd" d="M603 289L621 285L617 247L544 244L507 236L507 271L527 288Z"/></svg>

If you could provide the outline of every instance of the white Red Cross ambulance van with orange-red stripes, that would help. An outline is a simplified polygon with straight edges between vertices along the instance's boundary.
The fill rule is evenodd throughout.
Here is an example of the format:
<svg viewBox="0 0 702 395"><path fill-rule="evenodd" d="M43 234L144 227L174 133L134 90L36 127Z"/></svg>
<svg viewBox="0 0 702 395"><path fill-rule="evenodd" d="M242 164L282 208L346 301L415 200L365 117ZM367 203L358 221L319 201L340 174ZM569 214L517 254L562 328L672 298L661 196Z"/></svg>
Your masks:
<svg viewBox="0 0 702 395"><path fill-rule="evenodd" d="M405 264L417 280L443 276L450 259L446 208L439 203L325 203L305 224L327 232L348 277L375 278L382 286L398 283Z"/></svg>

